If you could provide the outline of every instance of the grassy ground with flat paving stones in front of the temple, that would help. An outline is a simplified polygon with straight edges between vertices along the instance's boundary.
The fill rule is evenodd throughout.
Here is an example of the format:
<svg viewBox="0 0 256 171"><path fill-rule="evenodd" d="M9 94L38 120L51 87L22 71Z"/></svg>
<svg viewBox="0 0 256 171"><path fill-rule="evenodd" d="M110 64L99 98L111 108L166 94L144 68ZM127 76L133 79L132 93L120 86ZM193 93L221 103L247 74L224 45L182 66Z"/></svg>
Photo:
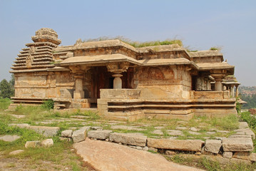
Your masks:
<svg viewBox="0 0 256 171"><path fill-rule="evenodd" d="M205 140L222 140L227 137L235 137L237 133L242 133L247 138L255 136L252 131L245 130L247 128L242 128L242 124L239 124L237 118L232 115L224 119L198 117L190 121L153 119L138 120L130 123L103 120L95 113L88 111L81 112L78 110L75 113L58 113L56 111L39 110L37 108L30 108L29 110L21 109L22 110L16 110L14 112L1 112L0 123L3 123L0 125L0 146L2 145L2 147L0 147L0 170L49 170L49 168L51 168L51 170L94 170L87 160L83 159L83 161L86 162L82 162L81 158L77 157L72 150L73 143L71 140L78 143L85 140L84 131L88 132L88 136L91 136L91 138L95 140L97 138L93 138L93 135L89 134L93 134L93 131L97 130L105 130L108 133L117 134L135 133L151 139L202 140L203 142L205 142ZM22 132L24 130L32 131L29 133L32 133L33 136L27 136L26 131ZM64 130L66 130L66 132ZM83 131L81 132L81 130ZM34 133L38 133L38 135L34 135ZM7 139L14 140L14 142L4 141L3 138L6 138L4 135L15 135L7 137ZM82 140L81 137L79 137L81 135L83 135ZM25 147L25 143L28 140L39 140L39 142L42 142L47 137L53 139L54 144L52 147L41 147L40 145L36 148ZM104 141L111 141L109 138L102 139ZM141 152L150 150L148 148L143 149L143 147L139 145L128 145L122 142L121 144L126 145L125 147L130 149L137 148L138 151ZM3 145L6 145L6 147ZM19 155L10 155L9 152L15 150L24 150L24 152L21 152ZM153 152L153 150L150 150L150 152ZM160 152L159 149L158 152ZM180 155L178 151L174 153L170 151L170 153L167 154L166 151L160 153L165 153L165 155L170 156L167 158L168 160L180 162L176 157ZM195 155L195 152L192 152L192 154ZM183 159L183 161L187 160ZM186 162L180 163L189 165ZM247 163L246 165L251 164ZM207 169L202 165L193 166ZM251 167L249 166L248 168Z"/></svg>

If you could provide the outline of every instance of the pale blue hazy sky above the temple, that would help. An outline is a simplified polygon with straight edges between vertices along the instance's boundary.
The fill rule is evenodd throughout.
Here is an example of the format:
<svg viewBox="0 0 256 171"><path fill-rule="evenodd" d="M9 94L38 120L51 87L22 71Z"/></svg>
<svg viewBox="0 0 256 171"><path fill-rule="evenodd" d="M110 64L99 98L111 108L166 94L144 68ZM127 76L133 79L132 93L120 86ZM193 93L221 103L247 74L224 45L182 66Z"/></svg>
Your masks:
<svg viewBox="0 0 256 171"><path fill-rule="evenodd" d="M178 38L193 50L221 46L243 86L256 86L256 1L12 1L0 0L0 81L39 28L61 45L78 38L124 36L133 41Z"/></svg>

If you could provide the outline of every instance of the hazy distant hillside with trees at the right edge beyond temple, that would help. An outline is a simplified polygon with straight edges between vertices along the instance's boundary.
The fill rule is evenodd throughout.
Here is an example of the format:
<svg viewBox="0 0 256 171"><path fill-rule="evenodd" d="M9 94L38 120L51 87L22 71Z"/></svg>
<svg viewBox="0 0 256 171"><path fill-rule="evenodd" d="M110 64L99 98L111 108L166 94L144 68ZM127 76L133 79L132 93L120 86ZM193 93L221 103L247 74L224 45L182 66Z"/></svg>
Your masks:
<svg viewBox="0 0 256 171"><path fill-rule="evenodd" d="M240 98L247 102L247 104L242 105L242 108L256 108L256 86L240 86L239 93Z"/></svg>

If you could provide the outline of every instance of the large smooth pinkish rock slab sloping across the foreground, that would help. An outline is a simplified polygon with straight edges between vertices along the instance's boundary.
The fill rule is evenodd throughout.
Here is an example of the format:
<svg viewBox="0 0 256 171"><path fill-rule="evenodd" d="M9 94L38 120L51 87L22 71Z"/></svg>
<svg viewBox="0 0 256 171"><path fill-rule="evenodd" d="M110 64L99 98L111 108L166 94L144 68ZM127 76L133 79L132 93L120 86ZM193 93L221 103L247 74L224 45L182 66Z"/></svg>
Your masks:
<svg viewBox="0 0 256 171"><path fill-rule="evenodd" d="M104 171L199 171L193 167L168 162L158 154L136 150L116 143L90 140L73 145L84 162L91 164L96 170Z"/></svg>

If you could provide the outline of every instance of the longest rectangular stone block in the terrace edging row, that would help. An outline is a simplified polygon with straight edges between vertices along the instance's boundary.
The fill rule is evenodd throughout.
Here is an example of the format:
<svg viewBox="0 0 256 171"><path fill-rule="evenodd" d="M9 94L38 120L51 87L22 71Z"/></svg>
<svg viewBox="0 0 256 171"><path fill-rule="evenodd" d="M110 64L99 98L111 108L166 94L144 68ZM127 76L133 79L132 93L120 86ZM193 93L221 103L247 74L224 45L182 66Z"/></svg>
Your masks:
<svg viewBox="0 0 256 171"><path fill-rule="evenodd" d="M202 140L171 140L148 138L148 147L170 150L201 151Z"/></svg>

